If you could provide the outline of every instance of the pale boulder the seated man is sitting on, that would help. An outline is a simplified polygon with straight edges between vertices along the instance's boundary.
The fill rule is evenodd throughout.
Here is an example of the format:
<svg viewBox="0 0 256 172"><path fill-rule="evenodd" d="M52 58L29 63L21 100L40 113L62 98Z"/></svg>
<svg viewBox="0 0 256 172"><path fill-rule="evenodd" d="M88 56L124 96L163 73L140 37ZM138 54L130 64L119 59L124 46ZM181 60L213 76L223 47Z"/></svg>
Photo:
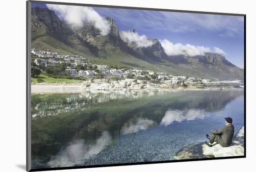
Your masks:
<svg viewBox="0 0 256 172"><path fill-rule="evenodd" d="M237 132L232 145L222 147L219 144L208 147L204 142L194 143L179 150L174 159L198 159L244 155L244 126Z"/></svg>

